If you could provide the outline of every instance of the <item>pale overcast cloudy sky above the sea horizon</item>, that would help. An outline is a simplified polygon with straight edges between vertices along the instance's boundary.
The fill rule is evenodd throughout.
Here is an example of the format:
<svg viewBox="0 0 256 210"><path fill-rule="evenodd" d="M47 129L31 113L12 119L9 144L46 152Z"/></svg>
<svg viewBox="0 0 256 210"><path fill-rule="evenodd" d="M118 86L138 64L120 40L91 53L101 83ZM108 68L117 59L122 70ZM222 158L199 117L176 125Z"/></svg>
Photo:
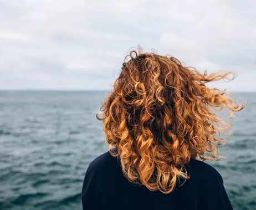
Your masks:
<svg viewBox="0 0 256 210"><path fill-rule="evenodd" d="M130 50L172 55L209 86L256 91L254 0L0 0L0 89L109 90Z"/></svg>

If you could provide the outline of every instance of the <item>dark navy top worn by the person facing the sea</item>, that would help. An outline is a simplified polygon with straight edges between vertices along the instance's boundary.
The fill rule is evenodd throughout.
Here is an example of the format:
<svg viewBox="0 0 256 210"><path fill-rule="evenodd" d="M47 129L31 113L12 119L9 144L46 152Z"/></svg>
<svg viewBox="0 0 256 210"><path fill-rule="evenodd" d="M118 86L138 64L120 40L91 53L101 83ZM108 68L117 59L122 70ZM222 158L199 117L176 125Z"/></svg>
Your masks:
<svg viewBox="0 0 256 210"><path fill-rule="evenodd" d="M109 151L89 165L82 188L84 210L222 210L233 209L222 176L212 166L191 159L186 165L190 179L164 194L134 185L122 173L120 161Z"/></svg>

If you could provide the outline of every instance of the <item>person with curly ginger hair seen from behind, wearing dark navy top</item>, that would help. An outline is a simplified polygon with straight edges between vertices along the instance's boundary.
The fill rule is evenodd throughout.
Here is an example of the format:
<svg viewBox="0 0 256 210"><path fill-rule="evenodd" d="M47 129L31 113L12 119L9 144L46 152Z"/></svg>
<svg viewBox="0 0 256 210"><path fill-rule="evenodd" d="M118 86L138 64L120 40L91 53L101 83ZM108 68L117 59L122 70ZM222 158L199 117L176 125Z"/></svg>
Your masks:
<svg viewBox="0 0 256 210"><path fill-rule="evenodd" d="M202 162L218 160L219 134L230 127L213 110L232 117L244 108L206 86L232 73L201 74L155 53L129 57L96 115L109 151L86 171L83 209L233 209L222 176Z"/></svg>

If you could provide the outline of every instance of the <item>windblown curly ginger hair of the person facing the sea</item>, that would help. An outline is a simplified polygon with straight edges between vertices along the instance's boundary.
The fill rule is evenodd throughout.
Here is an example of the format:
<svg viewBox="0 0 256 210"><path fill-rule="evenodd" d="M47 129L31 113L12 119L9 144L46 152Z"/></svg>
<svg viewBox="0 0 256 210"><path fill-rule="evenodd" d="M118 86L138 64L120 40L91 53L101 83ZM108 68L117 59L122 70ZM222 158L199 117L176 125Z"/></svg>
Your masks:
<svg viewBox="0 0 256 210"><path fill-rule="evenodd" d="M205 84L228 75L234 74L202 74L169 55L132 50L126 56L96 118L130 182L170 193L177 180L190 178L185 165L191 158L219 160L218 147L226 142L220 134L231 126L214 110L226 107L231 118L244 104Z"/></svg>

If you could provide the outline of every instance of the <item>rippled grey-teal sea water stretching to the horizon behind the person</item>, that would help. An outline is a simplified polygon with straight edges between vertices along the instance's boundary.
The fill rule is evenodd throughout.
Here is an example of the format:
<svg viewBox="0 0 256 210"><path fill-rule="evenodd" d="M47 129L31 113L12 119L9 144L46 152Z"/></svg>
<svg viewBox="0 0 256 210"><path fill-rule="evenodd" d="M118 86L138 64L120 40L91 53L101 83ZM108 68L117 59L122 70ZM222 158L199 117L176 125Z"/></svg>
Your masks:
<svg viewBox="0 0 256 210"><path fill-rule="evenodd" d="M0 209L82 209L86 168L107 151L104 91L0 91ZM256 209L256 93L231 121L221 173L234 209Z"/></svg>

